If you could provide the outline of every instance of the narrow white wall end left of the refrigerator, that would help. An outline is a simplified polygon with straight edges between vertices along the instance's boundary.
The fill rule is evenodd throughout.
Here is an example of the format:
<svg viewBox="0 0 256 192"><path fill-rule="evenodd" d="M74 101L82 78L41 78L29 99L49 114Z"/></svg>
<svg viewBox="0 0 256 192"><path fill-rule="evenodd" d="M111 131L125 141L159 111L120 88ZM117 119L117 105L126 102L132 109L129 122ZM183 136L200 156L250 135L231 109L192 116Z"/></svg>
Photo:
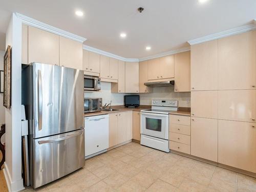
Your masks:
<svg viewBox="0 0 256 192"><path fill-rule="evenodd" d="M4 174L9 191L24 189L22 179L21 79L22 79L22 21L12 14L6 32L6 48L12 47L11 109L5 109L6 161Z"/></svg>

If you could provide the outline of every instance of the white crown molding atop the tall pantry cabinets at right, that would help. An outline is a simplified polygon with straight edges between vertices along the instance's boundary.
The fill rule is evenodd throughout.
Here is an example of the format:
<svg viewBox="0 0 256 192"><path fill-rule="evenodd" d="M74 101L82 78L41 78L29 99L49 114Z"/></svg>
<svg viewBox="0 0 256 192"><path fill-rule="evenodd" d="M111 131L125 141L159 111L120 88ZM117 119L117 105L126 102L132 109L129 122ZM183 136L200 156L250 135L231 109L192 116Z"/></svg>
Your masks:
<svg viewBox="0 0 256 192"><path fill-rule="evenodd" d="M256 29L256 19L253 20L253 24L244 25L244 26L241 26L241 27L237 27L237 28L226 30L226 31L222 31L222 32L219 32L219 33L214 33L214 34L211 34L211 35L206 35L204 37L189 40L187 42L190 45L196 45L196 44L201 44L202 42L215 40L215 39L219 39L219 38L227 37L227 36L231 36L231 35L236 35L236 34L239 34L239 33L247 32L247 31L251 31L251 30L255 30L255 29Z"/></svg>

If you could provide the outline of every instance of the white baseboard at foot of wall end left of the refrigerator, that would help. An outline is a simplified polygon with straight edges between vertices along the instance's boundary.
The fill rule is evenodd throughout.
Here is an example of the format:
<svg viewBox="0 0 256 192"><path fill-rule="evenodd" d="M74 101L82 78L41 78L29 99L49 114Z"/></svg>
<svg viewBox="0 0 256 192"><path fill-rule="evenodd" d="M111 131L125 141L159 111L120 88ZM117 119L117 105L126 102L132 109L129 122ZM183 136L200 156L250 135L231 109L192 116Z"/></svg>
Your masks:
<svg viewBox="0 0 256 192"><path fill-rule="evenodd" d="M6 164L6 162L4 163L4 167L5 168L3 169L3 172L4 172L4 176L5 176L5 180L6 180L8 190L11 191L11 192L16 192L16 191L20 191L20 190L25 189L24 185L23 185L23 179L19 179L17 181L12 182L11 177L10 177L10 172L9 172L9 169L8 169L8 165Z"/></svg>

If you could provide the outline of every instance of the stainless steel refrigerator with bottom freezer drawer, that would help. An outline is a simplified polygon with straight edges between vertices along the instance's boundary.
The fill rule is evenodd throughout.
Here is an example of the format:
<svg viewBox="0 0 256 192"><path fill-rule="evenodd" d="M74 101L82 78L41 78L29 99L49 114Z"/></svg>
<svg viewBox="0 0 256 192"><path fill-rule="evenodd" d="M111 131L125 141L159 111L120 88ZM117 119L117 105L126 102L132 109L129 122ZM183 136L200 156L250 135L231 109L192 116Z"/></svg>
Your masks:
<svg viewBox="0 0 256 192"><path fill-rule="evenodd" d="M84 165L83 71L33 62L22 67L29 121L30 183L40 187Z"/></svg>

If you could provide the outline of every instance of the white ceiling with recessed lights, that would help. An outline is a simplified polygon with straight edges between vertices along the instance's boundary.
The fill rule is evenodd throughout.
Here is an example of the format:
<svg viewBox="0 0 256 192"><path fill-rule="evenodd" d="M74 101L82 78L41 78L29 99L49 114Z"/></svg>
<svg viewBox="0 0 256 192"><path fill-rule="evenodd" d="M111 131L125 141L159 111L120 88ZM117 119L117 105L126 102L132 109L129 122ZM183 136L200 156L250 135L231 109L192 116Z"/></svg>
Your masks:
<svg viewBox="0 0 256 192"><path fill-rule="evenodd" d="M187 47L186 41L256 18L255 0L0 0L0 50L12 12L85 37L85 45L125 58ZM139 13L138 7L144 11ZM81 10L82 17L74 12ZM120 38L125 32L126 38ZM145 47L151 46L150 51Z"/></svg>

